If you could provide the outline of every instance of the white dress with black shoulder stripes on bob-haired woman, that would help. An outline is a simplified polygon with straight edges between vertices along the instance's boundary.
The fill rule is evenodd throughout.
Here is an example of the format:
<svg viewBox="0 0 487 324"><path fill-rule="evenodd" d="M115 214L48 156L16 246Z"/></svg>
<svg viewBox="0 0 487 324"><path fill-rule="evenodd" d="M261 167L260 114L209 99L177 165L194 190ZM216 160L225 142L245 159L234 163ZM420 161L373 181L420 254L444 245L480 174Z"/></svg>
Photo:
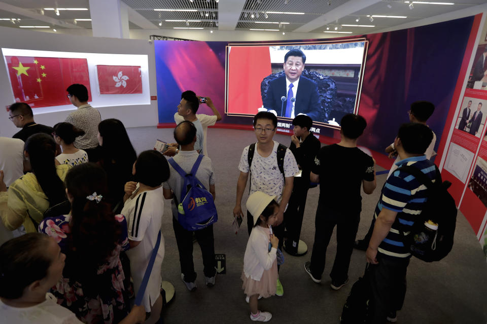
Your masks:
<svg viewBox="0 0 487 324"><path fill-rule="evenodd" d="M139 245L127 251L135 295L141 287L147 264L156 246L157 235L162 226L163 213L164 195L162 194L162 187L138 193L132 199L127 199L123 206L121 214L127 220L128 239L140 241ZM142 301L146 311L150 311L151 306L154 305L161 293L163 259L164 237L161 235L159 250Z"/></svg>

